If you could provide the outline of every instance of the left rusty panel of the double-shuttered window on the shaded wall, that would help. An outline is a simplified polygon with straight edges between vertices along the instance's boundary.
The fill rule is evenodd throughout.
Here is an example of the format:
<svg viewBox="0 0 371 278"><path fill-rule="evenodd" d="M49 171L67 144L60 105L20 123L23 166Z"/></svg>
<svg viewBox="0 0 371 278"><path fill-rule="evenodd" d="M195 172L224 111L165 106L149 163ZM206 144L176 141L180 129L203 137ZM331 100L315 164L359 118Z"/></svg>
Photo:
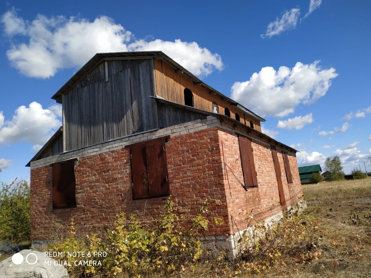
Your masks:
<svg viewBox="0 0 371 278"><path fill-rule="evenodd" d="M150 196L150 191L148 186L145 144L131 146L130 159L133 199L148 198Z"/></svg>

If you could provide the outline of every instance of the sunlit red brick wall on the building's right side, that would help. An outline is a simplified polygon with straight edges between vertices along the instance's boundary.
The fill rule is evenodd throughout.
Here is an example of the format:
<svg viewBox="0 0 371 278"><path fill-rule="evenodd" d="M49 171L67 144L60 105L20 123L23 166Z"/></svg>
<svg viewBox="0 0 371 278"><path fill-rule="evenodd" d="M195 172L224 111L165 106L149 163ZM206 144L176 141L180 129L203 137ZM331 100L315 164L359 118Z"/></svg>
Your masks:
<svg viewBox="0 0 371 278"><path fill-rule="evenodd" d="M225 168L225 188L228 204L229 218L233 218L233 233L246 228L251 219L246 213L252 211L255 221L262 221L270 216L278 214L291 204L296 204L302 195L296 157L289 155L290 168L294 183L288 186L285 168L283 166L282 153L278 153L282 182L285 192L286 205L280 205L278 185L273 165L272 153L268 142L259 142L263 139L249 136L253 139L253 157L257 172L258 187L247 188L247 191L239 183L243 182L241 159L239 154L238 137L226 130L220 130L219 135L222 143L222 154ZM258 139L258 140L257 140ZM239 180L239 181L238 181ZM290 194L289 194L290 191Z"/></svg>

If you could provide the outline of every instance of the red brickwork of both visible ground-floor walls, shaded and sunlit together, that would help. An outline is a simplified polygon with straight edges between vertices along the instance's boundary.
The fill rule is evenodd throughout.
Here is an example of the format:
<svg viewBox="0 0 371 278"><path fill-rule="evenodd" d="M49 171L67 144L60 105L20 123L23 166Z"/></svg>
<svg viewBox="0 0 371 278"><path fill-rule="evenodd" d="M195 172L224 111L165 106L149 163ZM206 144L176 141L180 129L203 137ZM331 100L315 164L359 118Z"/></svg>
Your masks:
<svg viewBox="0 0 371 278"><path fill-rule="evenodd" d="M234 133L208 128L175 136L165 143L170 198L177 200L178 211L196 214L205 199L212 202L208 235L230 235L247 227L246 212L253 210L260 221L282 210L279 203L272 153L268 143L252 142L257 171L257 188L246 192L241 184L238 138ZM287 206L298 202L302 195L296 157L289 155L294 183L287 184L282 153L278 149L282 182ZM234 177L234 175L237 179ZM129 149L122 148L79 159L75 164L76 208L52 209L52 182L49 166L31 169L31 237L47 239L55 219L68 225L73 217L86 228L104 228L112 224L115 215L160 214L168 197L132 200ZM217 226L214 217L222 217ZM231 219L234 219L232 224Z"/></svg>

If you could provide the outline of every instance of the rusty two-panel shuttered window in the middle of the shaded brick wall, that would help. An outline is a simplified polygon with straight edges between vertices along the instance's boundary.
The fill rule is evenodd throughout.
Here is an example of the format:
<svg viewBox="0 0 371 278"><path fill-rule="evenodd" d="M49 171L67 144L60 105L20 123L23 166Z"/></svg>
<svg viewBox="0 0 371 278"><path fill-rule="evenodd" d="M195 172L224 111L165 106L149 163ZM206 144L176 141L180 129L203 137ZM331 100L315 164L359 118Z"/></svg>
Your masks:
<svg viewBox="0 0 371 278"><path fill-rule="evenodd" d="M170 194L164 139L130 146L130 158L133 199Z"/></svg>

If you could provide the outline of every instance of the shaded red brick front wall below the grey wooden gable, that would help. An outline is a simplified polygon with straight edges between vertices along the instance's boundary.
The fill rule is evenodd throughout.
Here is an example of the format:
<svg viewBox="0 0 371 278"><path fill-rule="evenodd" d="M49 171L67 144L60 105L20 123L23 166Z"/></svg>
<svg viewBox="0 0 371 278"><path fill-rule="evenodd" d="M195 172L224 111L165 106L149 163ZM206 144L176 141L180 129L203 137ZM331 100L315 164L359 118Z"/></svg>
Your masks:
<svg viewBox="0 0 371 278"><path fill-rule="evenodd" d="M209 234L226 234L226 229L213 226L213 217L228 221L223 186L218 131L204 129L168 139L165 144L171 199L178 200L178 209L195 214L202 201L218 199L222 205L211 204ZM73 217L77 225L104 227L112 224L115 215L148 211L160 214L168 197L132 200L129 149L119 149L88 156L75 164L76 208L52 209L52 182L49 166L31 170L31 233L32 239L50 235L52 219L68 225Z"/></svg>

